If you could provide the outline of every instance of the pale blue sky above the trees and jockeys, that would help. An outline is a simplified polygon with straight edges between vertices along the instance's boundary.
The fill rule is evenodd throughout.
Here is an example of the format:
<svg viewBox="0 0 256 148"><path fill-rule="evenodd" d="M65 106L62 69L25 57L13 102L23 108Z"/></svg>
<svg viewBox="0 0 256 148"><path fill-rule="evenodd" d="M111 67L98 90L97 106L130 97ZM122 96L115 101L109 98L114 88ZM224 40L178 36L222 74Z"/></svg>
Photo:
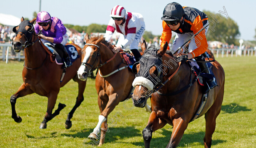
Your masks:
<svg viewBox="0 0 256 148"><path fill-rule="evenodd" d="M162 13L165 6L173 1L159 0L41 0L41 11L47 11L56 16L64 24L90 25L108 24L110 11L115 5L122 5L127 12L138 12L144 16L146 31L154 35L162 33ZM230 18L239 26L240 37L244 40L255 40L256 28L255 0L225 1L225 0L176 0L182 6L190 6L201 11L208 10L224 12L223 6ZM1 1L0 13L11 14L18 18L32 19L33 12L39 12L39 0L4 0ZM226 15L221 14L223 17ZM18 25L18 24L17 24ZM217 24L216 24L217 25Z"/></svg>

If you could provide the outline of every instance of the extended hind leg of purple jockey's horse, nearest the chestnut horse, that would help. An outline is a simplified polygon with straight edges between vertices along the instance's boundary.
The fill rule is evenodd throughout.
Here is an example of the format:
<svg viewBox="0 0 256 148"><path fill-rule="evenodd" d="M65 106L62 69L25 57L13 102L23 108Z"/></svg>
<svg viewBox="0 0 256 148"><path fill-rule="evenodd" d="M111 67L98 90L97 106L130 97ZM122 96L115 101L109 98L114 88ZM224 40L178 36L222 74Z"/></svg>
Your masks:
<svg viewBox="0 0 256 148"><path fill-rule="evenodd" d="M76 75L77 76L77 75ZM84 101L84 89L86 86L86 81L81 81L79 79L73 78L75 82L78 82L78 96L76 97L76 104L73 107L73 109L68 113L68 117L66 119L65 128L69 129L72 126L72 122L70 119L73 117L74 112L76 111L76 108L80 106L80 104Z"/></svg>

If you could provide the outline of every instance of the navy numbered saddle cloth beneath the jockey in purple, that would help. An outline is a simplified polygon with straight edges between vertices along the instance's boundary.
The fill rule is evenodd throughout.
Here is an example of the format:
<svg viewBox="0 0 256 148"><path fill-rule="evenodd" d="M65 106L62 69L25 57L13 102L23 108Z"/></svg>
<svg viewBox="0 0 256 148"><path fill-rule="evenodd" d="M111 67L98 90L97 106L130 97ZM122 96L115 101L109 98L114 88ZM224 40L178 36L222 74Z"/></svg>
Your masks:
<svg viewBox="0 0 256 148"><path fill-rule="evenodd" d="M64 59L62 59L59 54L56 52L55 47L50 43L44 43L44 45L55 55L55 62L58 65L63 65ZM65 45L71 62L73 63L76 59L78 59L80 56L78 55L78 52L76 50L76 47L73 45Z"/></svg>

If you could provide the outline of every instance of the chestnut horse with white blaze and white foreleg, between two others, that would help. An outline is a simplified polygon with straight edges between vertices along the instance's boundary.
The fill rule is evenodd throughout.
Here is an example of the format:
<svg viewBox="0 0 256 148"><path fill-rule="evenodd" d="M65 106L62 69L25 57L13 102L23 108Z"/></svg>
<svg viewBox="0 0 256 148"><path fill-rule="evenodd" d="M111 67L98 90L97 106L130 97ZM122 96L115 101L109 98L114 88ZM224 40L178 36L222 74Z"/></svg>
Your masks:
<svg viewBox="0 0 256 148"><path fill-rule="evenodd" d="M104 41L103 35L89 39L89 35L86 34L85 40L86 44L82 49L83 62L77 74L79 79L86 80L94 69L99 68L95 79L95 87L98 93L98 106L101 113L97 126L88 138L99 143L99 146L101 146L105 141L105 133L108 129L108 115L119 102L130 98L135 75L127 68L123 56L120 53L115 54L112 52L110 49L113 48L112 45L102 43ZM122 114L119 114L119 116L122 116ZM111 125L111 123L108 124ZM98 139L100 141L96 141Z"/></svg>

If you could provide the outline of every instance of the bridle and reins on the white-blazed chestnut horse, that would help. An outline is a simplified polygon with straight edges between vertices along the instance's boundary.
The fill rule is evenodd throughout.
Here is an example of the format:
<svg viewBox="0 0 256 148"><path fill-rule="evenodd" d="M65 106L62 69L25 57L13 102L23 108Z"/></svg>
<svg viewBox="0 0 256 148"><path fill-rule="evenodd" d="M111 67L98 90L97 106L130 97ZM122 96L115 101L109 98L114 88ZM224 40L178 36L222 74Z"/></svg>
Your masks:
<svg viewBox="0 0 256 148"><path fill-rule="evenodd" d="M89 72L87 72L89 76L91 76L91 72L93 72L95 69L100 68L101 66L107 64L107 63L110 62L112 59L114 59L115 56L116 56L116 54L117 54L117 53L115 53L115 55L114 55L111 59L109 59L109 60L106 61L105 63L101 64L100 46L95 45L95 44L85 44L85 45L95 46L95 47L97 47L97 48L99 49L98 52L97 52L97 57L96 57L96 59L95 59L95 61L94 61L94 63L93 63L92 65L89 64L89 63L87 63L87 62L82 62L82 63L81 63L81 65L84 65L86 69L87 69L87 66L86 66L86 65L88 65L88 66L91 67L91 69L89 70ZM94 68L94 66L96 65L96 63L98 62L98 60L100 60L99 66L97 66L97 67Z"/></svg>

